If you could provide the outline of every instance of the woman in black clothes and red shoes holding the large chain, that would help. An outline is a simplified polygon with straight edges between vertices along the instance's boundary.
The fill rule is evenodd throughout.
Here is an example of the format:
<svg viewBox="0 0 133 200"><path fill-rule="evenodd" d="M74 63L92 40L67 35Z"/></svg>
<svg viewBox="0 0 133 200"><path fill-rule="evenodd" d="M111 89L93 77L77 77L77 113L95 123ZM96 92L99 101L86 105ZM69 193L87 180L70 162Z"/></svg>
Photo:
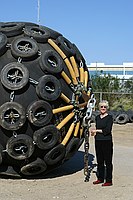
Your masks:
<svg viewBox="0 0 133 200"><path fill-rule="evenodd" d="M103 183L102 186L112 185L112 125L113 118L108 114L108 101L102 100L99 103L100 114L96 116L96 128L91 129L91 135L95 137L95 151L97 159L98 179L93 184ZM106 177L105 166L106 165ZM105 182L104 182L105 179Z"/></svg>

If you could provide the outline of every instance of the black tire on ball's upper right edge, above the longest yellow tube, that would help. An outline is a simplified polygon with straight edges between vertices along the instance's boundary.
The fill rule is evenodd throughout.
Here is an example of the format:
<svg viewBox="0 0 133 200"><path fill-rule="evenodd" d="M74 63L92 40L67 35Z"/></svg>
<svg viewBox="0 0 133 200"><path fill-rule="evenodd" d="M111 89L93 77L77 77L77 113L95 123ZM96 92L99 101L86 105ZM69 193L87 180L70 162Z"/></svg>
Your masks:
<svg viewBox="0 0 133 200"><path fill-rule="evenodd" d="M59 36L56 42L67 57L75 55L73 44L68 39L63 36Z"/></svg>

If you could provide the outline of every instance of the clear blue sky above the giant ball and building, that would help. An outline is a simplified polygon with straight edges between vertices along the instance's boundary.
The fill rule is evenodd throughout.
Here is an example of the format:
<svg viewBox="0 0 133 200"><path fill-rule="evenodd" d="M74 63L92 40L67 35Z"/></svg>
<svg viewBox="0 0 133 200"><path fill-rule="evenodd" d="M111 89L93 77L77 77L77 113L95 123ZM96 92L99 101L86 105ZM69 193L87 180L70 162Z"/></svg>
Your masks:
<svg viewBox="0 0 133 200"><path fill-rule="evenodd" d="M3 0L0 21L38 23L38 0ZM40 24L75 43L86 63L133 62L133 0L40 0Z"/></svg>

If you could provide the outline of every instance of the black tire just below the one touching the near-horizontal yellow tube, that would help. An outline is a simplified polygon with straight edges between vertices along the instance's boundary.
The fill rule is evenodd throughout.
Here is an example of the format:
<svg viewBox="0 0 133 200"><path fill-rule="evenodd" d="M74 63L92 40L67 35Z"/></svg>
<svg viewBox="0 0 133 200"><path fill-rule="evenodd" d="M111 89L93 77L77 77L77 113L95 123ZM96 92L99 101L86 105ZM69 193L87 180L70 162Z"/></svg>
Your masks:
<svg viewBox="0 0 133 200"><path fill-rule="evenodd" d="M43 150L53 148L59 142L60 133L55 125L45 126L33 134L35 144Z"/></svg>

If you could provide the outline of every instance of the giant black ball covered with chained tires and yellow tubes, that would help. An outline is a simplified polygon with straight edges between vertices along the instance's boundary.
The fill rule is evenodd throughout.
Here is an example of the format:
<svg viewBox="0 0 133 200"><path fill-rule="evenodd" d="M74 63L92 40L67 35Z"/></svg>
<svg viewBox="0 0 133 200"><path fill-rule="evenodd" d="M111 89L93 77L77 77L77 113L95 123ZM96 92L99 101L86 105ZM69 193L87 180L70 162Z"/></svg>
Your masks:
<svg viewBox="0 0 133 200"><path fill-rule="evenodd" d="M89 80L82 54L61 33L0 23L1 175L45 175L75 154Z"/></svg>

